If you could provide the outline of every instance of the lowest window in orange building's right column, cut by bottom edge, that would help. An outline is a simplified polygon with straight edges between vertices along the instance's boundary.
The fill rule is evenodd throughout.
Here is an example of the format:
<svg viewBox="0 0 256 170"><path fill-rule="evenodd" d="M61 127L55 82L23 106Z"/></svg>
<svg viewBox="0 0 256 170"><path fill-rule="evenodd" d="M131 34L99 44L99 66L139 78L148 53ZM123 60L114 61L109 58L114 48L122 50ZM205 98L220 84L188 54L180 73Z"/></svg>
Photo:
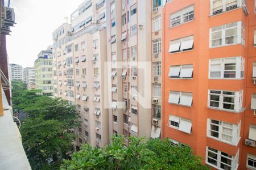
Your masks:
<svg viewBox="0 0 256 170"><path fill-rule="evenodd" d="M236 156L232 156L207 146L205 163L217 169L237 169L238 156L239 150L237 151Z"/></svg>

